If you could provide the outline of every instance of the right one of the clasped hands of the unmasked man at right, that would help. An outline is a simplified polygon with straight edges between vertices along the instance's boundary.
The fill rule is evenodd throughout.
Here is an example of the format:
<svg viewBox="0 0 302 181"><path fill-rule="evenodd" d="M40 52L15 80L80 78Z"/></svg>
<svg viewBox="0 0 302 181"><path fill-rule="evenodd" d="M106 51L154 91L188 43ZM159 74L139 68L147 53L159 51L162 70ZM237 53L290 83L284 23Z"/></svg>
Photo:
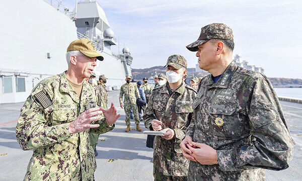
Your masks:
<svg viewBox="0 0 302 181"><path fill-rule="evenodd" d="M191 156L193 156L196 161L203 165L218 164L217 154L214 148L209 145L196 142L192 142L192 145L193 147L191 147L189 144L187 146L192 151Z"/></svg>

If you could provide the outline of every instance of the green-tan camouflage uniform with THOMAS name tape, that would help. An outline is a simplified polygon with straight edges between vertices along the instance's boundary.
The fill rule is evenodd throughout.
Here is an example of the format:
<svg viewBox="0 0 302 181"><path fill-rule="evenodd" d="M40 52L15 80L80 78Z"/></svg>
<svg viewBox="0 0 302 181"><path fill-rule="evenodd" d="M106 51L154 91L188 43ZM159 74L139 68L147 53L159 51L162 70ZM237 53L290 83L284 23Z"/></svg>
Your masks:
<svg viewBox="0 0 302 181"><path fill-rule="evenodd" d="M33 150L24 180L94 180L96 160L89 131L113 129L105 118L100 127L69 134L69 123L96 107L93 87L83 81L81 99L65 73L39 82L21 108L16 137L23 150Z"/></svg>

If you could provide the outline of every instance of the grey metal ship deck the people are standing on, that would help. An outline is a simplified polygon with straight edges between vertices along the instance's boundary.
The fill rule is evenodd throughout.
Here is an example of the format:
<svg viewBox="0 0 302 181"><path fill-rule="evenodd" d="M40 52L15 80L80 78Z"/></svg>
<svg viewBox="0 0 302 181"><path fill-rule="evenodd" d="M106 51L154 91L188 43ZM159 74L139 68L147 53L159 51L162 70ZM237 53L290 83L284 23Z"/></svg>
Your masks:
<svg viewBox="0 0 302 181"><path fill-rule="evenodd" d="M145 147L146 135L136 130L126 133L125 113L119 108L119 91L108 92L122 116L113 131L100 135L96 180L153 180L153 149ZM290 133L296 142L290 166L282 171L266 171L267 180L302 180L302 104L281 101ZM16 141L15 128L23 103L0 104L0 180L23 180L32 151L23 151ZM140 126L144 128L143 123ZM135 128L131 120L131 129ZM7 154L6 154L7 153ZM114 161L108 162L109 159Z"/></svg>

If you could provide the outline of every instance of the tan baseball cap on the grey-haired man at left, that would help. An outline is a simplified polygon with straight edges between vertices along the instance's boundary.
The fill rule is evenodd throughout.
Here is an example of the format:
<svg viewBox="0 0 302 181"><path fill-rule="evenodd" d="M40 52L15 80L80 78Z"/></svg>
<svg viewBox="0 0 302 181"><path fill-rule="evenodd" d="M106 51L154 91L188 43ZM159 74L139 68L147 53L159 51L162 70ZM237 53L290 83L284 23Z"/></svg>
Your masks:
<svg viewBox="0 0 302 181"><path fill-rule="evenodd" d="M104 57L97 52L94 43L87 38L81 38L71 42L67 48L67 52L74 50L78 50L88 57L96 57L98 60L101 61L104 60Z"/></svg>

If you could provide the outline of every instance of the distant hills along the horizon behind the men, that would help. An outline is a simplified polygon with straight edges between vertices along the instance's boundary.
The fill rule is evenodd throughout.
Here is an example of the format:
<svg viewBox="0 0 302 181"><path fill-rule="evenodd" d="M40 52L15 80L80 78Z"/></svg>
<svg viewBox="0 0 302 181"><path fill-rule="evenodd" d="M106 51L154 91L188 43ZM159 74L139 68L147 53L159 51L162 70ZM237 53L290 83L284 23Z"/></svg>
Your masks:
<svg viewBox="0 0 302 181"><path fill-rule="evenodd" d="M188 68L188 78L189 82L193 76L204 77L208 73L196 73L195 68ZM132 76L136 80L142 80L143 77L149 78L150 76L154 76L155 72L166 73L166 68L163 66L154 66L150 68L136 69L132 68ZM302 79L299 78L277 78L277 77L269 77L269 80L273 84L274 87L302 87Z"/></svg>

